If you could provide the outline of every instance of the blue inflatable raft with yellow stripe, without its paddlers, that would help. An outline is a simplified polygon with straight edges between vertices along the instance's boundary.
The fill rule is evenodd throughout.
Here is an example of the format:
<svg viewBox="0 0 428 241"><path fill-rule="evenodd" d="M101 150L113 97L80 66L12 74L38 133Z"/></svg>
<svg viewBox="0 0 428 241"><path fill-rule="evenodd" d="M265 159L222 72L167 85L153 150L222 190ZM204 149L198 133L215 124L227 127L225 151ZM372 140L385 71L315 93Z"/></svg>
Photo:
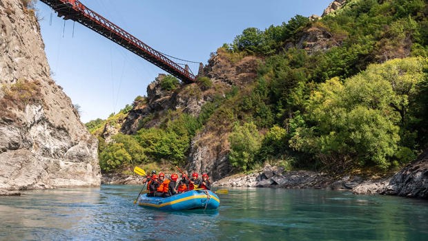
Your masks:
<svg viewBox="0 0 428 241"><path fill-rule="evenodd" d="M139 196L138 205L166 211L217 209L220 198L210 190L186 191L168 198L148 197L144 194Z"/></svg>

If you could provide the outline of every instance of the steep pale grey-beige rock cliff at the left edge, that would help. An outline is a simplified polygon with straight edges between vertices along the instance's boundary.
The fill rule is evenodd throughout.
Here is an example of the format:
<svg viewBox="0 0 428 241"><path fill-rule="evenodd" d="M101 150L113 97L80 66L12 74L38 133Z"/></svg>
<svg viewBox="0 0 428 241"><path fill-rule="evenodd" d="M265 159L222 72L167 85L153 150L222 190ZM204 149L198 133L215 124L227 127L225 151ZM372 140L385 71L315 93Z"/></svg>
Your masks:
<svg viewBox="0 0 428 241"><path fill-rule="evenodd" d="M100 184L97 139L50 78L39 24L0 0L0 189Z"/></svg>

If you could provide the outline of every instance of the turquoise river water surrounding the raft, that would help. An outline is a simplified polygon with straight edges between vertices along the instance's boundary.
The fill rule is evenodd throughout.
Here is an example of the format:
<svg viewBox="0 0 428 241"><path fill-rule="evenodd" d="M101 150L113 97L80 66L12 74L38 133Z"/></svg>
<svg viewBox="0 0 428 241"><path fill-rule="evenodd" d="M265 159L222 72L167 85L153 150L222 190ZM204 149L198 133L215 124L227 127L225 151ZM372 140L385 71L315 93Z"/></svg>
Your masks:
<svg viewBox="0 0 428 241"><path fill-rule="evenodd" d="M141 186L0 198L0 240L428 240L428 201L315 189L229 189L216 211L133 205Z"/></svg>

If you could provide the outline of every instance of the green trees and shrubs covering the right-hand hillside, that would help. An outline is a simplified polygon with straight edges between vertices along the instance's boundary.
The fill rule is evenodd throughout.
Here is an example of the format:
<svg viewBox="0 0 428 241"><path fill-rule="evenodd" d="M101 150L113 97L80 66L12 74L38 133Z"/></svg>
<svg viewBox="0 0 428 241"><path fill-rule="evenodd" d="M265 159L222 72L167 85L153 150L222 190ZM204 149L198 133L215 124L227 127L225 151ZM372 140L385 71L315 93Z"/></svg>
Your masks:
<svg viewBox="0 0 428 241"><path fill-rule="evenodd" d="M309 30L329 40L302 41ZM296 16L266 30L248 28L217 55L232 62L257 56L257 78L206 102L197 116L171 110L156 127L118 134L100 145L101 168L184 164L192 138L210 128L228 134L235 171L266 161L335 172L387 170L428 147L426 1L348 1L322 19ZM206 77L201 83L201 90L212 85ZM162 87L180 91L171 80Z"/></svg>

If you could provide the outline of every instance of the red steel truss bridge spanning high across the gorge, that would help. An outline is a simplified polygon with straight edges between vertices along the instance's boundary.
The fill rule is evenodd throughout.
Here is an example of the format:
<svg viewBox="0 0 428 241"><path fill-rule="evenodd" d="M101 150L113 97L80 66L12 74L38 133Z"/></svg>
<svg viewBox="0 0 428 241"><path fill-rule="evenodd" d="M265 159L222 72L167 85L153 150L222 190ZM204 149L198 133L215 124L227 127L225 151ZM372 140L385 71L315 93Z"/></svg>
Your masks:
<svg viewBox="0 0 428 241"><path fill-rule="evenodd" d="M82 25L94 30L95 32L105 36L107 39L115 41L117 44L130 50L131 52L141 56L150 63L157 65L162 70L179 78L184 83L194 83L195 75L189 72L188 67L181 67L171 59L168 59L164 54L150 48L135 36L129 34L125 30L119 28L115 23L112 23L84 6L78 0L40 0L50 6L58 17L77 21Z"/></svg>

